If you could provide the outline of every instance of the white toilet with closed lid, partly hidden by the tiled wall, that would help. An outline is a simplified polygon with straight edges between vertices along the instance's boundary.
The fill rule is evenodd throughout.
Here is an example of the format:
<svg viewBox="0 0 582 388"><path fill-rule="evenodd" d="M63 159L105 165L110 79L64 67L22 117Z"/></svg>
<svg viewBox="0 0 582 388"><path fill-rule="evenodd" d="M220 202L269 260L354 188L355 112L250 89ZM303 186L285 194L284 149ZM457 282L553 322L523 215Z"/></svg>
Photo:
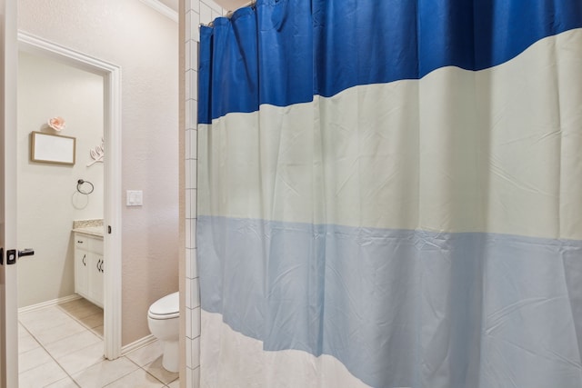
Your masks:
<svg viewBox="0 0 582 388"><path fill-rule="evenodd" d="M180 331L180 295L170 293L154 302L147 311L149 331L164 346L162 366L169 372L180 368L178 338Z"/></svg>

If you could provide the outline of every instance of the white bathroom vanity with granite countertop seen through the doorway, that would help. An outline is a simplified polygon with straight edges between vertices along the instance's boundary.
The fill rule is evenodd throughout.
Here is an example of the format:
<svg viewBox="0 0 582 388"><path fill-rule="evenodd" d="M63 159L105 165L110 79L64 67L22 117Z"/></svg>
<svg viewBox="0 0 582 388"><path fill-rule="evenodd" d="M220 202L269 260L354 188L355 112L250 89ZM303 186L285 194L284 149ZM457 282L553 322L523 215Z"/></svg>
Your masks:
<svg viewBox="0 0 582 388"><path fill-rule="evenodd" d="M89 220L97 221L97 220ZM105 259L103 256L103 222L88 224L75 221L75 293L103 307Z"/></svg>

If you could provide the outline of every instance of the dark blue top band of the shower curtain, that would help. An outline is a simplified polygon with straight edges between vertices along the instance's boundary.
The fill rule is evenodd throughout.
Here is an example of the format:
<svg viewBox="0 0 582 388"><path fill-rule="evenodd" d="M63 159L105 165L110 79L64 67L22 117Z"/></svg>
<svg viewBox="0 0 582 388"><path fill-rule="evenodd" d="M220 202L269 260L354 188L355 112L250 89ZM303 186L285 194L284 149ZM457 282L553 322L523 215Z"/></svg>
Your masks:
<svg viewBox="0 0 582 388"><path fill-rule="evenodd" d="M444 66L500 65L581 19L576 0L258 1L200 29L198 123Z"/></svg>

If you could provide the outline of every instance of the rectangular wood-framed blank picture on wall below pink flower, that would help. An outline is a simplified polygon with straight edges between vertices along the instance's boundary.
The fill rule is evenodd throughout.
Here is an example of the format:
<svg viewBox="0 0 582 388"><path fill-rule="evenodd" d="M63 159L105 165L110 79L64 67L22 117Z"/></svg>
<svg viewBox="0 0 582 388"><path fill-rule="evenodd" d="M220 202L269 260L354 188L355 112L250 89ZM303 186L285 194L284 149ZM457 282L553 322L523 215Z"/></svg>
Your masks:
<svg viewBox="0 0 582 388"><path fill-rule="evenodd" d="M76 138L33 131L30 134L30 160L49 164L75 164Z"/></svg>

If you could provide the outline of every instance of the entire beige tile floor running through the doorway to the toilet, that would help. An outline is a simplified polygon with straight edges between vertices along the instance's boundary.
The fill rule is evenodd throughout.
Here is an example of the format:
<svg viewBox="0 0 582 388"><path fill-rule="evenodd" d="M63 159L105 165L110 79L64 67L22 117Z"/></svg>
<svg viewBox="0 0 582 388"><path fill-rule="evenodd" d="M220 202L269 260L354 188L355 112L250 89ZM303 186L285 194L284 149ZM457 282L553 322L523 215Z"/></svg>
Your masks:
<svg viewBox="0 0 582 388"><path fill-rule="evenodd" d="M156 341L103 357L103 310L85 299L18 314L19 388L177 388Z"/></svg>

